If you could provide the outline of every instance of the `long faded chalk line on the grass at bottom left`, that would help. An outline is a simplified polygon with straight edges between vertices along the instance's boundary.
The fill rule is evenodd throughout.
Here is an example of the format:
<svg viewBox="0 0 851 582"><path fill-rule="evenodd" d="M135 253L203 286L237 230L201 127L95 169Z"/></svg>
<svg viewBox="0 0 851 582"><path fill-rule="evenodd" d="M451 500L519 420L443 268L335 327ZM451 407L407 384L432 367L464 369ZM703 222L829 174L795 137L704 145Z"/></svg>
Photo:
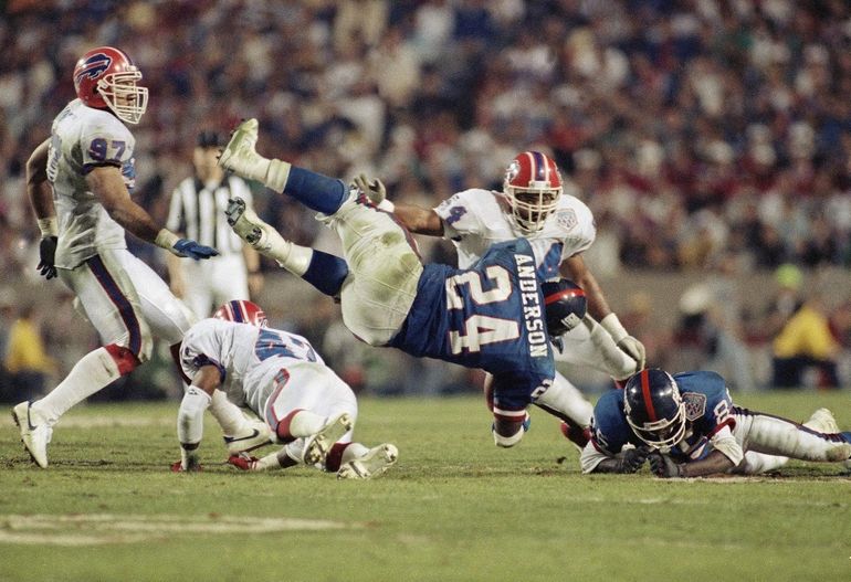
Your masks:
<svg viewBox="0 0 851 582"><path fill-rule="evenodd" d="M275 533L359 529L363 523L251 516L145 516L118 514L0 515L0 543L98 546L167 539L185 533ZM83 533L81 530L85 530Z"/></svg>

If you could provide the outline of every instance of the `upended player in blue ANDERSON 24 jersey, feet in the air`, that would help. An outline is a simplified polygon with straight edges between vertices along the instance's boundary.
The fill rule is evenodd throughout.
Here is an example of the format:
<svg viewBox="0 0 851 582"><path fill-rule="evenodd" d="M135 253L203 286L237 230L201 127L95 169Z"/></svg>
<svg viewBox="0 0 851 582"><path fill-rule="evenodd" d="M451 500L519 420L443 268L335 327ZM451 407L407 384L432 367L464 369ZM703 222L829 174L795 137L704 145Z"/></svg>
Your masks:
<svg viewBox="0 0 851 582"><path fill-rule="evenodd" d="M365 342L492 373L494 441L518 443L528 426L526 408L555 375L547 319L574 327L586 309L580 288L538 281L536 253L548 246L517 239L493 245L469 269L423 266L409 233L369 201L365 184L347 187L263 158L256 139L256 119L243 121L222 151L222 167L319 212L340 237L345 261L284 240L234 199L228 216L237 234L338 296L346 327Z"/></svg>

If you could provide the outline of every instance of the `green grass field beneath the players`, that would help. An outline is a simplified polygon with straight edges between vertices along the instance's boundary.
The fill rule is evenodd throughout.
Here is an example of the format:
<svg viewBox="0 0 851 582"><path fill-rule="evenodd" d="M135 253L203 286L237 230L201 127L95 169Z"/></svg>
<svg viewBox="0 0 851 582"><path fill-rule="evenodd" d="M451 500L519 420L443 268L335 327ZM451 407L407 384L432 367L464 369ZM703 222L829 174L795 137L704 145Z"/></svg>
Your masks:
<svg viewBox="0 0 851 582"><path fill-rule="evenodd" d="M803 420L847 392L739 395ZM841 465L665 482L581 476L557 422L533 411L498 449L483 402L361 399L357 438L400 449L370 482L223 465L178 475L177 403L87 405L56 426L46 470L0 430L2 581L851 580L851 478ZM9 416L6 416L9 419Z"/></svg>

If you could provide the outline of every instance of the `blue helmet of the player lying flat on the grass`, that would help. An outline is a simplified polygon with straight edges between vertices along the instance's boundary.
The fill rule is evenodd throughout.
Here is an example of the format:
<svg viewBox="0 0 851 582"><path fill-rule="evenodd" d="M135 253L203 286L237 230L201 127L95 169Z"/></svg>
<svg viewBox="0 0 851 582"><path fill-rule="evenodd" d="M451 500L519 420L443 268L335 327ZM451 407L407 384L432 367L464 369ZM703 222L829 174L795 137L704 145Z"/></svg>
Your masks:
<svg viewBox="0 0 851 582"><path fill-rule="evenodd" d="M623 410L635 436L648 445L668 449L685 436L685 405L673 377L644 369L623 387Z"/></svg>

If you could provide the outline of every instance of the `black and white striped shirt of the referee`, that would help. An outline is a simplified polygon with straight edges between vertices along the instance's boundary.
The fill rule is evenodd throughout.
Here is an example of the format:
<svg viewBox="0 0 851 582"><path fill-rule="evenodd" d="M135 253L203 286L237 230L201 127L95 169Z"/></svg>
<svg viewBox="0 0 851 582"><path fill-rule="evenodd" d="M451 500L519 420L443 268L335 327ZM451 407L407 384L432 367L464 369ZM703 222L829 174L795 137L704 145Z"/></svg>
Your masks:
<svg viewBox="0 0 851 582"><path fill-rule="evenodd" d="M198 178L187 178L171 193L166 227L218 248L221 255L241 254L242 241L228 225L228 216L224 215L228 199L233 197L252 204L251 189L237 176L228 176L222 182L207 183Z"/></svg>

